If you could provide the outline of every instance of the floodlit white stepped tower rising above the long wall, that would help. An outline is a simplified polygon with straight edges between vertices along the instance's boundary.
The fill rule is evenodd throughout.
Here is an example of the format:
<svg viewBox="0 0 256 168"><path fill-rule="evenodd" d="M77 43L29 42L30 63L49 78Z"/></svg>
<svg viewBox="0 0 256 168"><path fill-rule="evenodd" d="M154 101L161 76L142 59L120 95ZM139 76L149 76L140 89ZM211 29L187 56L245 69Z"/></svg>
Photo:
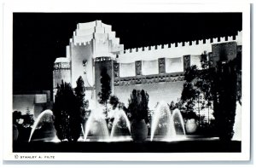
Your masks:
<svg viewBox="0 0 256 168"><path fill-rule="evenodd" d="M81 76L87 92L85 99L96 101L101 91L101 70L105 67L113 90L113 62L123 50L124 45L119 44L112 26L101 20L79 23L67 46L66 58L70 60L72 87L76 87L76 81Z"/></svg>

